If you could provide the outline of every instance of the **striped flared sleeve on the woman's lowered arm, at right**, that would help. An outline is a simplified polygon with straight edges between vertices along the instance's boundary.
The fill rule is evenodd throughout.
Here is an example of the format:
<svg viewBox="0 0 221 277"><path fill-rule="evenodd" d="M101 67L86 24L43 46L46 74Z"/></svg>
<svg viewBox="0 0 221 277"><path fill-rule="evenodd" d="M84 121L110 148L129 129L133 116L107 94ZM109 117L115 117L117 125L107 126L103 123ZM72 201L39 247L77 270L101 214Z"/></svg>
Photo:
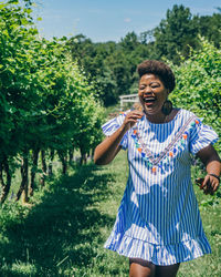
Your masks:
<svg viewBox="0 0 221 277"><path fill-rule="evenodd" d="M218 141L218 134L212 127L204 125L201 120L196 120L196 122L190 137L190 153L193 155Z"/></svg>

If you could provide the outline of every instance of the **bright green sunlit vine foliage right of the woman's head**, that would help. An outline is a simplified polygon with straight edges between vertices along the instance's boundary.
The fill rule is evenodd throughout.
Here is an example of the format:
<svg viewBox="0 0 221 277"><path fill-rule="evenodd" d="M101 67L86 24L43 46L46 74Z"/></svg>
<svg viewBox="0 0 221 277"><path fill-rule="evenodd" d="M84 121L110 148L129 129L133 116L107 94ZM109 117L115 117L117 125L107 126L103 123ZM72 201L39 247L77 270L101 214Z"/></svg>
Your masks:
<svg viewBox="0 0 221 277"><path fill-rule="evenodd" d="M200 50L192 50L190 59L173 66L177 85L170 99L203 117L221 137L221 51L202 38L200 41Z"/></svg>

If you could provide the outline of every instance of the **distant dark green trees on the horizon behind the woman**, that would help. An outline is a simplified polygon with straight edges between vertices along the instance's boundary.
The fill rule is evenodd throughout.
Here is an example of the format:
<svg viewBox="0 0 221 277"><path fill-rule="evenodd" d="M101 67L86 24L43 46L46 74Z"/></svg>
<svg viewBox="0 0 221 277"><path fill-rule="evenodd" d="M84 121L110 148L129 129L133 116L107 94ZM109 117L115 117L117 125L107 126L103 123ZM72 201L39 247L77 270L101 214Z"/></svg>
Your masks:
<svg viewBox="0 0 221 277"><path fill-rule="evenodd" d="M145 59L167 59L180 64L190 49L201 48L202 35L220 48L220 9L212 16L192 16L189 8L175 4L158 27L140 34L129 32L118 43L93 43L83 34L69 41L72 57L78 60L90 80L95 80L99 96L106 106L118 101L120 94L136 93L136 66Z"/></svg>

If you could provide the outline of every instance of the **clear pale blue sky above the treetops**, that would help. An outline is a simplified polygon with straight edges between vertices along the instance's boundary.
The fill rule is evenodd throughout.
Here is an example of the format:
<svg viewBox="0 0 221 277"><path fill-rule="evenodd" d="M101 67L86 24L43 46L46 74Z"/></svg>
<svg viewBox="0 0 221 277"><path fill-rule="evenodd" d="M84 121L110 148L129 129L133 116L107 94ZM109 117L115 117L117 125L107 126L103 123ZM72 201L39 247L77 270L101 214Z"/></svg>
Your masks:
<svg viewBox="0 0 221 277"><path fill-rule="evenodd" d="M83 33L93 42L118 42L126 33L151 30L173 4L190 8L192 14L211 16L220 0L35 0L38 29L42 37L73 37Z"/></svg>

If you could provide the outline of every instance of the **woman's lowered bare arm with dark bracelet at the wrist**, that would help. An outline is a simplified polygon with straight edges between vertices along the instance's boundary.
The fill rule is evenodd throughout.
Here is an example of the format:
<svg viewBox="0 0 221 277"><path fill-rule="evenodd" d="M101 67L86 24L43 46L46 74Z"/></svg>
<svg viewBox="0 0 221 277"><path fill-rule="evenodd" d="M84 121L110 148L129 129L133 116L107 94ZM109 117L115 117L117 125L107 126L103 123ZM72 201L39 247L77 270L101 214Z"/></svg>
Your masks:
<svg viewBox="0 0 221 277"><path fill-rule="evenodd" d="M200 150L197 156L202 161L208 173L200 188L206 194L213 195L220 184L221 160L211 144Z"/></svg>

